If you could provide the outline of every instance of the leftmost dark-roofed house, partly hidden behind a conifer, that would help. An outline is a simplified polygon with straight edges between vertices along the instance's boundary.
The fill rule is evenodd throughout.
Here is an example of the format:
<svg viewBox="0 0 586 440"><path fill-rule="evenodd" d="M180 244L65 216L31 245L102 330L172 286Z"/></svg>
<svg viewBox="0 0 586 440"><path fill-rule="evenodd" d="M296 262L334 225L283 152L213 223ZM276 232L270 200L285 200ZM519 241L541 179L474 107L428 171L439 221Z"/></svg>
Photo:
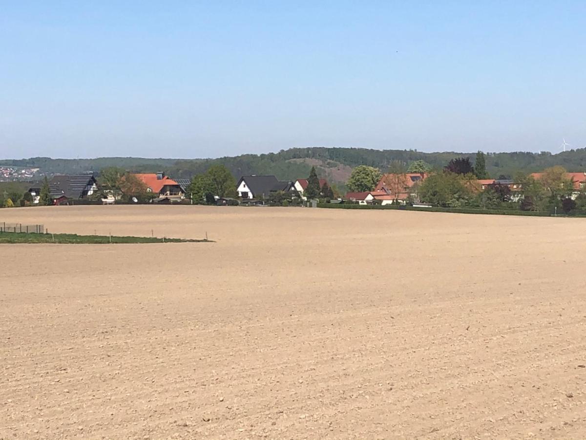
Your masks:
<svg viewBox="0 0 586 440"><path fill-rule="evenodd" d="M40 200L41 184L29 188L33 203ZM96 178L91 174L54 175L49 180L49 195L55 205L67 203L69 200L87 199L98 189Z"/></svg>

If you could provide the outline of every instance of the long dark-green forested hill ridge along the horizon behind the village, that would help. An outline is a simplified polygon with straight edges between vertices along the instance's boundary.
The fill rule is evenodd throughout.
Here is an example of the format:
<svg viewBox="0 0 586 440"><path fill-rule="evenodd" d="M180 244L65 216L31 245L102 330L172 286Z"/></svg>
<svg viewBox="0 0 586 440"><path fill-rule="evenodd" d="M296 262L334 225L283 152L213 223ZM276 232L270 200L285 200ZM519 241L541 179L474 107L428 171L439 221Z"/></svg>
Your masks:
<svg viewBox="0 0 586 440"><path fill-rule="evenodd" d="M51 159L35 157L22 160L2 160L0 165L40 168L47 174L75 174L97 172L104 167L122 167L129 171L154 172L163 170L176 178L190 178L205 171L210 165L224 164L240 177L246 174L274 174L282 180L294 180L309 175L312 165L318 173L333 182L345 182L353 167L370 165L385 171L391 161L406 164L424 160L433 167L443 167L456 157L475 159L473 153L422 153L414 150L369 150L366 148L291 148L279 153L243 154L217 159L165 159L105 157L96 159ZM570 150L563 153L487 153L486 169L491 177L512 176L517 171L540 171L553 165L563 165L568 171L586 170L586 149Z"/></svg>

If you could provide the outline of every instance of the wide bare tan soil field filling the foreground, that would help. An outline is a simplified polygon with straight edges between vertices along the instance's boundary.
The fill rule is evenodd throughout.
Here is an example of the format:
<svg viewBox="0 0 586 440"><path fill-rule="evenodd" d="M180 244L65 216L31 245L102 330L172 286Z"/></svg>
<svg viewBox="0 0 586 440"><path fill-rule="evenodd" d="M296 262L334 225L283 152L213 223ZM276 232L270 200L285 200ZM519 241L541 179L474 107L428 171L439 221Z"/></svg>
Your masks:
<svg viewBox="0 0 586 440"><path fill-rule="evenodd" d="M586 220L47 207L0 246L0 439L586 438Z"/></svg>

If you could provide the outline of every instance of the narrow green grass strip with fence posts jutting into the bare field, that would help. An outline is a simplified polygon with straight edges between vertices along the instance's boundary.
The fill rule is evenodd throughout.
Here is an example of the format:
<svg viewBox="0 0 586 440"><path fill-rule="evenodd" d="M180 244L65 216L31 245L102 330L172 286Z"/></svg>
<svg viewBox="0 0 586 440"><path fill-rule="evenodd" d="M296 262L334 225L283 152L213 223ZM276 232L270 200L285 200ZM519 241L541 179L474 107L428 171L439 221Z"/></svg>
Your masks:
<svg viewBox="0 0 586 440"><path fill-rule="evenodd" d="M207 239L132 237L109 235L77 235L76 233L15 233L0 232L2 243L60 243L68 245L106 245L122 243L202 243L212 242Z"/></svg>

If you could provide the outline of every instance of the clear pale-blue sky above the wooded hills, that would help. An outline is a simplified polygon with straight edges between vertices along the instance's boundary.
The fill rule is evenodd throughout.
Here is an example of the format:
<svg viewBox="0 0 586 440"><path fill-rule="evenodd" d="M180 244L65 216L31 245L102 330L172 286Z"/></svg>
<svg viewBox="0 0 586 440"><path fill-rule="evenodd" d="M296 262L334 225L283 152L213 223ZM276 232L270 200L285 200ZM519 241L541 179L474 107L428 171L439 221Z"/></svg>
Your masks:
<svg viewBox="0 0 586 440"><path fill-rule="evenodd" d="M583 0L92 3L2 2L0 157L586 145Z"/></svg>

